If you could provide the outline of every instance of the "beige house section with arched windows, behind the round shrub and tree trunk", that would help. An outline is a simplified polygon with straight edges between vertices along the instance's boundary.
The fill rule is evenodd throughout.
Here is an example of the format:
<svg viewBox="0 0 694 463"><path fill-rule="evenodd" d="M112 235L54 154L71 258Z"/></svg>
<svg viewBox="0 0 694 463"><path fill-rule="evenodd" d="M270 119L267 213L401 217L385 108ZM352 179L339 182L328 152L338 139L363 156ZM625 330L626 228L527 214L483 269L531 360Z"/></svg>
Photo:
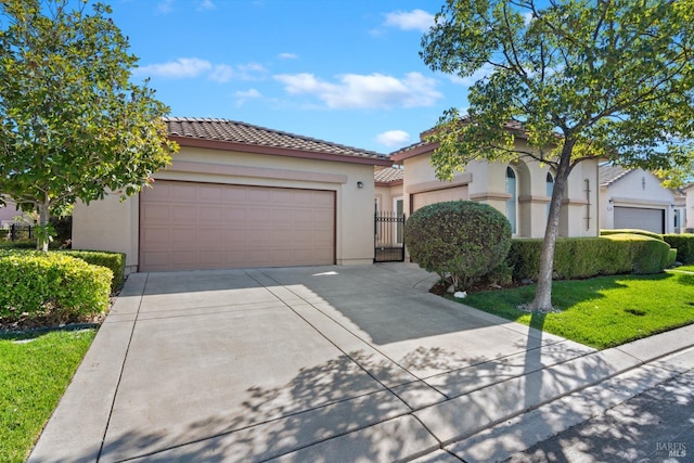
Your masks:
<svg viewBox="0 0 694 463"><path fill-rule="evenodd" d="M516 146L527 149L518 124L509 124L516 136ZM421 142L391 154L404 168L403 207L409 216L422 206L442 201L471 200L489 204L511 222L514 236L542 237L547 227L554 175L547 165L527 156L512 163L473 162L452 181L441 181L430 159L436 143ZM578 164L568 178L562 205L560 235L596 236L597 160Z"/></svg>

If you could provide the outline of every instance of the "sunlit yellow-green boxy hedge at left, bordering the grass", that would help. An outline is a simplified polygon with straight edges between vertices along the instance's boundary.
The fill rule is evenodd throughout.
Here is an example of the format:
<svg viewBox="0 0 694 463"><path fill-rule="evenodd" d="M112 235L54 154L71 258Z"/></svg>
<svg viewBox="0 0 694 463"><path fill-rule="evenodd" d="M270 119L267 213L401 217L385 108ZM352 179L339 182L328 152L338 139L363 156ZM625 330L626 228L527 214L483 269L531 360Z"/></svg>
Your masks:
<svg viewBox="0 0 694 463"><path fill-rule="evenodd" d="M62 253L0 250L0 317L77 321L108 308L110 269Z"/></svg>

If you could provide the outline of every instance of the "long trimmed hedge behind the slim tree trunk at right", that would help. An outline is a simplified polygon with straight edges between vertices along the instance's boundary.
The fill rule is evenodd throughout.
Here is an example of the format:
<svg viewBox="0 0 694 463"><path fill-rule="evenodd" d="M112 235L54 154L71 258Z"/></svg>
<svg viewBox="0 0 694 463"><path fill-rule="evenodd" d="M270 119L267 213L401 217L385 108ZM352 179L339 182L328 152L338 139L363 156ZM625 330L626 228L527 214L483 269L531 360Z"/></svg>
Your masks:
<svg viewBox="0 0 694 463"><path fill-rule="evenodd" d="M536 280L541 239L514 239L509 252L513 279ZM620 273L659 273L668 266L670 246L635 234L604 237L560 237L554 249L554 279L571 280Z"/></svg>

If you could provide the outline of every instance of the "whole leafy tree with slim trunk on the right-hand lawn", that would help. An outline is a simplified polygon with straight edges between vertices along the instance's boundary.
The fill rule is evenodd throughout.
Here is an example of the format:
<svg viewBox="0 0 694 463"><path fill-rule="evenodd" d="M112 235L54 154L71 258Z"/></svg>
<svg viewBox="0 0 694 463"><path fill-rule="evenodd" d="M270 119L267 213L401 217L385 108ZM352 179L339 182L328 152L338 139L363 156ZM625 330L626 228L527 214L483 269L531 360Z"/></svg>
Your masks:
<svg viewBox="0 0 694 463"><path fill-rule="evenodd" d="M447 111L433 140L437 176L474 159L530 156L555 171L529 309L552 309L552 265L566 180L608 159L678 180L694 170L693 0L448 0L422 39L434 70L486 77L467 115ZM522 123L529 150L513 143Z"/></svg>

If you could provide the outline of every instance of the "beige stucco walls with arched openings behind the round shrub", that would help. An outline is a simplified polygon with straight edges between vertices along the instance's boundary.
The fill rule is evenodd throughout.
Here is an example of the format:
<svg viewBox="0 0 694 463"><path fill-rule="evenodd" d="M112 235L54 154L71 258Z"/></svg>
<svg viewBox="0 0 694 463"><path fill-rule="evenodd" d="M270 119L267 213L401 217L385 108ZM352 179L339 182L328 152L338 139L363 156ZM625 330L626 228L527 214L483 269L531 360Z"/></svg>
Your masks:
<svg viewBox="0 0 694 463"><path fill-rule="evenodd" d="M519 149L525 146L519 145ZM547 194L549 168L531 158L522 157L513 163L470 163L464 172L452 181L436 179L430 153L402 160L404 165L406 210L411 209L412 194L442 188L467 185L468 198L496 207L506 214L506 167L511 165L517 176L518 211L517 236L542 237L547 227L550 196ZM586 191L588 181L589 191ZM596 236L597 227L597 162L580 163L571 172L562 206L560 234L563 236Z"/></svg>

